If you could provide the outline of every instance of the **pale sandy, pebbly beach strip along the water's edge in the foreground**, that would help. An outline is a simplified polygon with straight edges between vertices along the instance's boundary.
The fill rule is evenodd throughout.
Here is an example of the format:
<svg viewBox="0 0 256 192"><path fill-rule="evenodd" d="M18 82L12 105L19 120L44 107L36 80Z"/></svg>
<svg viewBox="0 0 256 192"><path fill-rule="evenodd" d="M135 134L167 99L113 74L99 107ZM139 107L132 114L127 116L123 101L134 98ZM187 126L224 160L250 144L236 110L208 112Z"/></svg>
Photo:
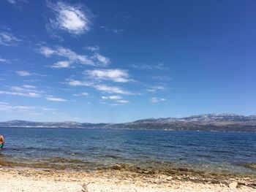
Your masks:
<svg viewBox="0 0 256 192"><path fill-rule="evenodd" d="M83 183L89 192L97 191L256 191L255 178L227 178L226 180L205 180L198 182L184 180L184 177L172 177L165 174L138 174L120 170L97 172L65 172L49 169L18 169L0 167L1 192L12 191L82 191ZM191 177L189 177L191 178ZM236 188L229 183L237 182Z"/></svg>

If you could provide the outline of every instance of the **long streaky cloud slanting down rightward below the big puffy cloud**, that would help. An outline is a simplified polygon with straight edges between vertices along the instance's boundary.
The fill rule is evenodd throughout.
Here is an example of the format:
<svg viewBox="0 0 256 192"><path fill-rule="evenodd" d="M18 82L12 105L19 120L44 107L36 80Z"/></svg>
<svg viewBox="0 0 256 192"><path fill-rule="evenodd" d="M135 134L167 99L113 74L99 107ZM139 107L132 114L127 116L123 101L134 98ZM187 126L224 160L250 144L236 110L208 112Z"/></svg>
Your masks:
<svg viewBox="0 0 256 192"><path fill-rule="evenodd" d="M72 64L72 62L77 63L77 64L83 64L83 65L94 65L94 61L92 61L90 58L88 58L87 55L79 55L75 53L72 50L69 50L68 48L65 47L57 47L55 50L53 50L50 47L40 47L39 53L42 55L45 55L46 57L52 56L52 55L57 55L63 58L69 59L69 66Z"/></svg>

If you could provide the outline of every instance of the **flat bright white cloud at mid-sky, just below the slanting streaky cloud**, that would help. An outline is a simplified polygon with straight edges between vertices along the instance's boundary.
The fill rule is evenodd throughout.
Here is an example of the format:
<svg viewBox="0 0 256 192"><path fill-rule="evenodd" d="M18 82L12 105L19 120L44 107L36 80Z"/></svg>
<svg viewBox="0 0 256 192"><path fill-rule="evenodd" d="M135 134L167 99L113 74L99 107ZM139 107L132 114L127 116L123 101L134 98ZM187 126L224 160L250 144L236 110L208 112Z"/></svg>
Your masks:
<svg viewBox="0 0 256 192"><path fill-rule="evenodd" d="M111 80L113 82L129 82L129 74L122 69L94 69L87 70L85 74L94 80Z"/></svg>

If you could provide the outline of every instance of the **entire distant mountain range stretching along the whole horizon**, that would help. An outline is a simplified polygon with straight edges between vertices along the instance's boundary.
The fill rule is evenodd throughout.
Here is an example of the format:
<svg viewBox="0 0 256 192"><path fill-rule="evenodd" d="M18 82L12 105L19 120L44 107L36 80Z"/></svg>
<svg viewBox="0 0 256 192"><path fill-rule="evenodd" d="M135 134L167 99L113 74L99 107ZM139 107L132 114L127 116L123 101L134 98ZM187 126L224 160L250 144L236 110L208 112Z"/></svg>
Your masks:
<svg viewBox="0 0 256 192"><path fill-rule="evenodd" d="M130 123L77 123L31 122L10 120L1 122L0 127L35 127L35 128L125 128L176 131L249 131L256 132L256 115L205 114L187 118L150 118Z"/></svg>

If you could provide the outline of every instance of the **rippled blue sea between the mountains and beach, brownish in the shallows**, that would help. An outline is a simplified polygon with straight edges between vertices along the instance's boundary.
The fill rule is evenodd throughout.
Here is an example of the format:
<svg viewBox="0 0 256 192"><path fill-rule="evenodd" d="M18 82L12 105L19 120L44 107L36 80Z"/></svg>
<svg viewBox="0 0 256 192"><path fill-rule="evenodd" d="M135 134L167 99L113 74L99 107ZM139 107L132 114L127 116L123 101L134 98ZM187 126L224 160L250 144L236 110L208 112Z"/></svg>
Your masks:
<svg viewBox="0 0 256 192"><path fill-rule="evenodd" d="M256 133L0 128L0 163L94 170L111 164L256 174Z"/></svg>

